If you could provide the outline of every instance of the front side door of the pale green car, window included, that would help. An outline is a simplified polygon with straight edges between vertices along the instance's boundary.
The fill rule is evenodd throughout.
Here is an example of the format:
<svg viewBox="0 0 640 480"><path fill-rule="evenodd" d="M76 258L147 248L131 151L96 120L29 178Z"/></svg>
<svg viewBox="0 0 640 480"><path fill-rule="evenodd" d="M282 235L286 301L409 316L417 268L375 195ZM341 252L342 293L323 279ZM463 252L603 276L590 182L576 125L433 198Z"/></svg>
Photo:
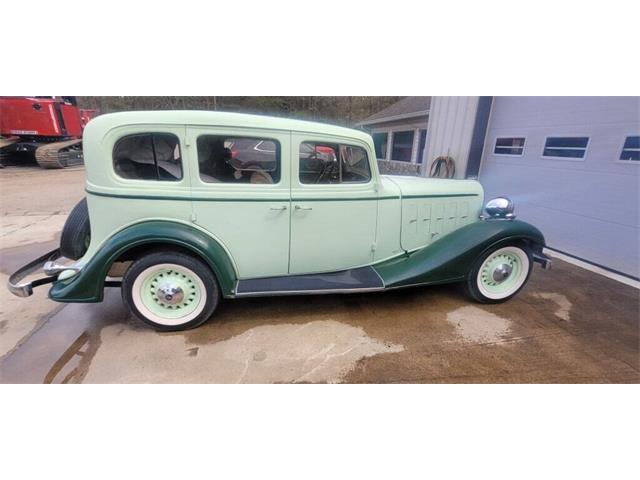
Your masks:
<svg viewBox="0 0 640 480"><path fill-rule="evenodd" d="M355 140L293 133L291 151L289 272L370 264L378 204L370 147Z"/></svg>

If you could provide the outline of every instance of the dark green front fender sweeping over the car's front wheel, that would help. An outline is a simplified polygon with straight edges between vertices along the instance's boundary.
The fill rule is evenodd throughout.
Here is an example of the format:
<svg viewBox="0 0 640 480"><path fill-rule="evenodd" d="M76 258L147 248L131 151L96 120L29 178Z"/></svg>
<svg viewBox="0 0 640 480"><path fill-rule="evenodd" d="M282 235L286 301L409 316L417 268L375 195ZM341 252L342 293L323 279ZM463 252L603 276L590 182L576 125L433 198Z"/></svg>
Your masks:
<svg viewBox="0 0 640 480"><path fill-rule="evenodd" d="M473 264L489 249L510 242L527 242L534 252L544 237L520 220L484 220L466 225L420 250L384 261L373 268L386 288L464 280Z"/></svg>

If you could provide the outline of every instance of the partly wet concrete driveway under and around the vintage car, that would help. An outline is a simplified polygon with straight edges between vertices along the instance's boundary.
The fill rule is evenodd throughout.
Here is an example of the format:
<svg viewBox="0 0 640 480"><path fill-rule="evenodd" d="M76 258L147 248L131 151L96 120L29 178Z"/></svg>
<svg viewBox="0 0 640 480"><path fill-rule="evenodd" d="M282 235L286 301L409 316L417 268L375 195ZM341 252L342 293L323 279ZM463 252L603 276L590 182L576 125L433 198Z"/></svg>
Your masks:
<svg viewBox="0 0 640 480"><path fill-rule="evenodd" d="M55 248L84 171L0 170L0 280ZM119 289L60 305L0 288L0 382L640 381L639 290L560 260L502 305L457 286L224 302L202 327L160 334Z"/></svg>

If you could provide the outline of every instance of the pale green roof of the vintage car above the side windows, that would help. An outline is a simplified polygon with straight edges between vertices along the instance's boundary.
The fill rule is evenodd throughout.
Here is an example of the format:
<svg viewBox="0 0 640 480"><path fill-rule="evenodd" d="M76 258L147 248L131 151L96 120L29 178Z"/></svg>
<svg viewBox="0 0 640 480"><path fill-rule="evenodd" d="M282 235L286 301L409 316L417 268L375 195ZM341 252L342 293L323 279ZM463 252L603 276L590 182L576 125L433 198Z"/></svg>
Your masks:
<svg viewBox="0 0 640 480"><path fill-rule="evenodd" d="M320 122L307 122L267 115L249 115L245 113L211 112L202 110L156 110L137 112L118 112L100 115L89 122L87 128L92 133L102 130L103 134L115 127L140 124L165 124L187 126L221 126L264 128L306 133L321 133L332 136L357 138L369 141L371 136L361 130L339 127Z"/></svg>

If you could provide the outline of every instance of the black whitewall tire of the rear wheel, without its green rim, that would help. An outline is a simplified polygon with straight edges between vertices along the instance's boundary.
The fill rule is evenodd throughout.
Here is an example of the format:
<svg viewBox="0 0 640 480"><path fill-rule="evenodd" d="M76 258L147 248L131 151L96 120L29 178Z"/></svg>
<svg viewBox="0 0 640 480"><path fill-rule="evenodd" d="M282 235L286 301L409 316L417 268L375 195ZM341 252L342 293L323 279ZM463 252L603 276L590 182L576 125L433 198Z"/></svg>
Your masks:
<svg viewBox="0 0 640 480"><path fill-rule="evenodd" d="M152 316L154 312L147 309L144 303L142 303L145 295L145 278L152 276L152 274L148 272L154 267L160 268L160 265L165 264L182 267L185 272L188 271L188 275L197 276L199 278L197 284L200 289L204 290L204 299L200 298L200 303L203 305L198 305L196 311L189 314L195 314L195 317L188 318L184 322L180 322L180 318L166 318L166 320L162 318L163 321L171 322L171 324L161 323L157 320L161 317L158 315L154 318ZM136 286L136 281L139 277L141 278ZM202 292L200 292L200 296L202 296ZM184 253L158 251L145 255L129 267L122 279L122 299L131 313L143 323L146 323L159 332L172 332L189 330L206 322L211 315L213 315L213 312L220 303L220 289L211 269L200 260ZM136 302L138 302L138 305Z"/></svg>

